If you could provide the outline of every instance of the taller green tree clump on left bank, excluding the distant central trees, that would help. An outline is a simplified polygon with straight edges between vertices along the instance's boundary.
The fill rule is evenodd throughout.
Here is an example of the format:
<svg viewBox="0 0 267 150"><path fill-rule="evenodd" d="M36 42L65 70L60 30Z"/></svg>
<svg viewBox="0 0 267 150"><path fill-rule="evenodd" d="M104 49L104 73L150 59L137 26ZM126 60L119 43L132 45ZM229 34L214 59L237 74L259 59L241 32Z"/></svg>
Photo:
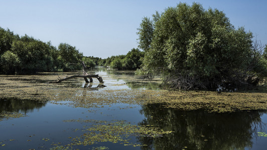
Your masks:
<svg viewBox="0 0 267 150"><path fill-rule="evenodd" d="M35 73L37 71L72 71L81 69L83 54L75 46L60 43L58 49L51 42L34 37L19 36L0 27L0 73Z"/></svg>

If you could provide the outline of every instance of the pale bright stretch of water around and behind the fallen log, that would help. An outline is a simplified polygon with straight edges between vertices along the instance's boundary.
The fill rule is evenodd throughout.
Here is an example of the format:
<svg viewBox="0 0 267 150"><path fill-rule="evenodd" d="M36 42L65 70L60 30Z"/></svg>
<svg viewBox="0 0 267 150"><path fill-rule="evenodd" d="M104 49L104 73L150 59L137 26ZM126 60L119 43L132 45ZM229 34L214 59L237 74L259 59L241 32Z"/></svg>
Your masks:
<svg viewBox="0 0 267 150"><path fill-rule="evenodd" d="M144 79L140 76L135 75L135 71L129 71L129 70L107 70L105 67L95 67L92 70L87 71L88 74L99 74L99 76L102 76L104 80L104 85L110 87L115 84L116 88L119 84L125 85L128 88L136 89L136 88L146 88L146 89L159 89L160 85L160 78L149 80ZM78 72L59 72L54 73L53 75L58 75L61 78L66 76L71 76L75 74L82 74L81 71ZM46 74L47 75L47 74ZM46 80L47 82L47 80ZM83 78L71 78L68 80L65 80L63 82L57 83L62 84L64 87L70 87L70 88L91 88L92 90L98 90L97 88L105 87L99 84L97 85L98 80L96 78L93 78L93 84L86 83ZM110 87L110 88L112 88ZM124 87L122 87L124 88Z"/></svg>

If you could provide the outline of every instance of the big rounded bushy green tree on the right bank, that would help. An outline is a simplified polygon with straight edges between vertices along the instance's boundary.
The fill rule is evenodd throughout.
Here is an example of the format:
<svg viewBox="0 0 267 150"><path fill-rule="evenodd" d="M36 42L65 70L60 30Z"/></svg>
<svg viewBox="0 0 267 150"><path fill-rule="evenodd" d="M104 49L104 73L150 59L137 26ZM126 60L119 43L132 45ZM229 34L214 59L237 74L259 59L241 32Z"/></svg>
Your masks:
<svg viewBox="0 0 267 150"><path fill-rule="evenodd" d="M204 88L223 80L236 83L245 81L244 73L251 66L252 33L235 29L217 9L179 3L157 12L153 21L143 18L138 30L139 47L145 50L139 72L161 72L166 84L173 79L193 80L190 88L196 82Z"/></svg>

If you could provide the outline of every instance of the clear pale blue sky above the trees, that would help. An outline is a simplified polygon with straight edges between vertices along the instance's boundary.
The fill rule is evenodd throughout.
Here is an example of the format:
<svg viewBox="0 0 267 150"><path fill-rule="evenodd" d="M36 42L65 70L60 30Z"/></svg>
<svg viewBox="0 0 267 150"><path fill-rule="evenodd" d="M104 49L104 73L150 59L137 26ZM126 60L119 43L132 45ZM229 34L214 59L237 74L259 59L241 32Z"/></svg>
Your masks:
<svg viewBox="0 0 267 150"><path fill-rule="evenodd" d="M181 0L222 10L267 43L267 0ZM136 48L144 16L163 12L179 0L0 0L0 26L54 46L66 42L85 56L106 58Z"/></svg>

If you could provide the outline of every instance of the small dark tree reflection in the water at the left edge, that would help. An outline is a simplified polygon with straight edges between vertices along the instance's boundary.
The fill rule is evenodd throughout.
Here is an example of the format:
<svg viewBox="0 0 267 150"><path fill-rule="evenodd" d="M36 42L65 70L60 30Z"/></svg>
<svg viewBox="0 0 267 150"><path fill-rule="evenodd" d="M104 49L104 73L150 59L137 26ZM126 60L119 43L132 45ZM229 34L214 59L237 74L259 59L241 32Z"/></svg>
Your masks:
<svg viewBox="0 0 267 150"><path fill-rule="evenodd" d="M41 108L45 106L46 103L39 102L36 100L20 100L15 98L0 99L0 112L10 111L10 112L32 112L35 108Z"/></svg>

